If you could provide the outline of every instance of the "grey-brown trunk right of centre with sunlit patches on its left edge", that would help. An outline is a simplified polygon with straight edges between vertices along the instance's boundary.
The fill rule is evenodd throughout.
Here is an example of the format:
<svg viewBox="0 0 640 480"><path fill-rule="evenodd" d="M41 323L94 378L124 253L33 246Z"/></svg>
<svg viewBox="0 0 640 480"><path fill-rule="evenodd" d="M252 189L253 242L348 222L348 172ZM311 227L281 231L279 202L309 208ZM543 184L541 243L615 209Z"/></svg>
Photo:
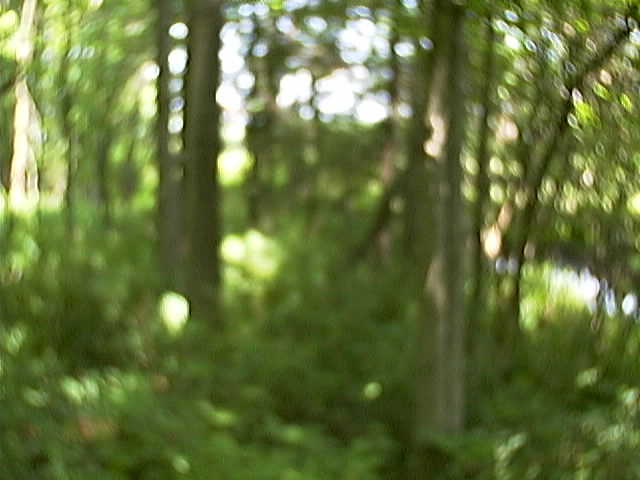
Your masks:
<svg viewBox="0 0 640 480"><path fill-rule="evenodd" d="M434 37L435 70L429 117L431 153L436 158L436 236L425 282L423 340L418 371L416 440L425 469L441 470L443 456L434 437L457 433L465 423L465 206L460 156L465 140L465 8L434 2L439 35ZM414 472L419 475L419 472Z"/></svg>

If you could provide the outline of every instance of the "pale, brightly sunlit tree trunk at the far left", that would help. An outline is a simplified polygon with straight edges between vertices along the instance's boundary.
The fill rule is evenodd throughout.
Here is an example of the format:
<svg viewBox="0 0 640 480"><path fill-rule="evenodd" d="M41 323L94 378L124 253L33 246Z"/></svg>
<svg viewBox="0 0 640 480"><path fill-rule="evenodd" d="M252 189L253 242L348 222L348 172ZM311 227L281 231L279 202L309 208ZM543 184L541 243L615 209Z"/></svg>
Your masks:
<svg viewBox="0 0 640 480"><path fill-rule="evenodd" d="M9 202L12 208L33 206L38 199L38 167L32 145L36 107L27 84L27 70L33 57L37 0L25 0L17 32L15 114L11 159Z"/></svg>

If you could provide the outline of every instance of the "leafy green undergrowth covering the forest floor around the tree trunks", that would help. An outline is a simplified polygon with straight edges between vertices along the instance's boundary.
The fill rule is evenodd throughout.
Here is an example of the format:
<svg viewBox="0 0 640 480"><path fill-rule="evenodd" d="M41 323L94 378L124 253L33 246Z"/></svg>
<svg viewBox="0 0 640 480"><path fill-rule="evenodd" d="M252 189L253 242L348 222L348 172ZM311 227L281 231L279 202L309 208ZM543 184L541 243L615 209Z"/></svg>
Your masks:
<svg viewBox="0 0 640 480"><path fill-rule="evenodd" d="M13 249L31 232L37 261L2 291L5 478L401 477L414 315L402 269L335 277L322 240L296 252L280 239L292 243L276 276L252 280L260 300L235 290L234 328L203 344L189 324L177 337L163 327L135 223L117 239L88 235L83 258L55 217L40 221L47 235L13 227ZM530 276L547 279L542 291L546 272ZM546 304L529 360L498 389L474 387L472 428L437 442L443 478L635 478L637 367L625 365L637 336L614 348L612 326L598 343L576 300L528 291Z"/></svg>

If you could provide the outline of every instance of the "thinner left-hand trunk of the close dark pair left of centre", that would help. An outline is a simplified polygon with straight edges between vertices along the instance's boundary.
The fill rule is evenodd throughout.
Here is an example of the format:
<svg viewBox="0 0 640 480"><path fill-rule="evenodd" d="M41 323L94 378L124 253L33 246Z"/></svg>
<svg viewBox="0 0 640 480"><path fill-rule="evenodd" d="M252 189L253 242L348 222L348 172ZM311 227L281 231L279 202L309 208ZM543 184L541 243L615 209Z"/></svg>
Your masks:
<svg viewBox="0 0 640 480"><path fill-rule="evenodd" d="M182 284L182 167L169 151L169 53L171 38L169 28L174 21L171 0L156 3L156 54L159 68L157 78L156 159L158 165L158 207L156 229L158 261L162 268L166 287L180 290Z"/></svg>

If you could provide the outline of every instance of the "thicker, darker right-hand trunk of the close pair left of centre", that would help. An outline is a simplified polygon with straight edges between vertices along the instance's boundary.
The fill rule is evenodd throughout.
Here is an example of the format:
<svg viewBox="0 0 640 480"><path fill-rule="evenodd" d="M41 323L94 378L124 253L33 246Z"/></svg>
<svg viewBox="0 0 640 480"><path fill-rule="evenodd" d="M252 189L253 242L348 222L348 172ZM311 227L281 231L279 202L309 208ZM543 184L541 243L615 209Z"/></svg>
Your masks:
<svg viewBox="0 0 640 480"><path fill-rule="evenodd" d="M185 110L186 221L188 233L187 294L195 318L220 324L220 195L217 158L221 149L219 0L192 0L189 5L189 60Z"/></svg>

